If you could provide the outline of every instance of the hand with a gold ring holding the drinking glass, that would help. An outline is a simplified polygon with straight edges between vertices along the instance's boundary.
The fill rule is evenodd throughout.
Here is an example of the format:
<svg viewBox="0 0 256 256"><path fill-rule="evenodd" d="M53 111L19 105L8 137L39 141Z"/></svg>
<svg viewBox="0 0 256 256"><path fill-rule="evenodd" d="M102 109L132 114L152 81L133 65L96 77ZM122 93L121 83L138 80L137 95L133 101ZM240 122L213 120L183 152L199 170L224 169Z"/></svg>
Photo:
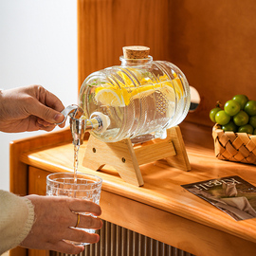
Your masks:
<svg viewBox="0 0 256 256"><path fill-rule="evenodd" d="M26 239L22 242L22 247L77 254L82 252L84 247L69 244L64 240L91 244L99 242L99 234L72 228L77 223L75 212L87 212L100 216L101 207L99 205L83 199L64 196L32 194L26 197L34 205L35 222ZM101 229L101 226L100 218L80 214L78 228Z"/></svg>

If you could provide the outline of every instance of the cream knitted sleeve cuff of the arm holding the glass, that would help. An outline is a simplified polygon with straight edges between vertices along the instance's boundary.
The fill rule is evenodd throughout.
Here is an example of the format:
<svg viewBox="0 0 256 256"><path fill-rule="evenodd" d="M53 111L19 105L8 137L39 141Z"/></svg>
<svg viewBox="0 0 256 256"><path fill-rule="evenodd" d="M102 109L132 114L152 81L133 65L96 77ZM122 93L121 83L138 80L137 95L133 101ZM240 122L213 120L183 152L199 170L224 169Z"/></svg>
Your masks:
<svg viewBox="0 0 256 256"><path fill-rule="evenodd" d="M23 242L33 223L31 201L0 190L0 255Z"/></svg>

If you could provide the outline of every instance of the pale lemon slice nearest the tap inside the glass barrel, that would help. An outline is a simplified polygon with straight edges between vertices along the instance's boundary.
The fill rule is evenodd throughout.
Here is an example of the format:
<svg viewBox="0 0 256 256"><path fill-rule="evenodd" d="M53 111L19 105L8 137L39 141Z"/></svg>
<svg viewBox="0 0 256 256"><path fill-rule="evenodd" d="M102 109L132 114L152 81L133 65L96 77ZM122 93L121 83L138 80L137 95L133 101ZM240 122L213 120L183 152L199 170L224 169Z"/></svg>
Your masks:
<svg viewBox="0 0 256 256"><path fill-rule="evenodd" d="M95 90L95 100L108 106L125 106L120 90L106 89L103 87Z"/></svg>

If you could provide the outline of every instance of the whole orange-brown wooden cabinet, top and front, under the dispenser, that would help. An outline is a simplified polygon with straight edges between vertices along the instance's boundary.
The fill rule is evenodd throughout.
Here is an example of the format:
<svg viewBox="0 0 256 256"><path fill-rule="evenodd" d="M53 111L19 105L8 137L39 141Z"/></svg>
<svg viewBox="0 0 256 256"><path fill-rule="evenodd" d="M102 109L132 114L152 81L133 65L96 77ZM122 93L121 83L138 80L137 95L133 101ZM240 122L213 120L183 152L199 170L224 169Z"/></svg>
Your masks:
<svg viewBox="0 0 256 256"><path fill-rule="evenodd" d="M102 219L119 229L137 232L194 255L253 255L255 219L236 222L181 185L235 174L256 184L255 166L216 159L207 126L184 122L181 131L192 165L190 172L170 167L165 160L155 161L140 167L145 184L136 187L125 183L111 167L96 173L80 165L80 172L98 174L103 179ZM45 194L47 174L73 172L70 134L66 129L12 142L11 191ZM80 163L87 138L86 134L80 149ZM29 253L45 256L47 252ZM15 254L13 250L13 255L22 254Z"/></svg>

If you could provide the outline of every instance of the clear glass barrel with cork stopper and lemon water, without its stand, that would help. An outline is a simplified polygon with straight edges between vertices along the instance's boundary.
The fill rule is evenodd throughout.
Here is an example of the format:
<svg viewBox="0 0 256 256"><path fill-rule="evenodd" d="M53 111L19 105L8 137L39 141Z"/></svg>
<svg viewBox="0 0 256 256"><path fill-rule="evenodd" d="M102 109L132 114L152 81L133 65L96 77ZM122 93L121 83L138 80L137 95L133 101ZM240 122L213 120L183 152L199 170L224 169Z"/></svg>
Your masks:
<svg viewBox="0 0 256 256"><path fill-rule="evenodd" d="M166 137L190 108L185 75L174 64L153 61L144 46L123 47L119 59L119 66L94 72L82 83L79 105L92 124L90 133L104 142Z"/></svg>

